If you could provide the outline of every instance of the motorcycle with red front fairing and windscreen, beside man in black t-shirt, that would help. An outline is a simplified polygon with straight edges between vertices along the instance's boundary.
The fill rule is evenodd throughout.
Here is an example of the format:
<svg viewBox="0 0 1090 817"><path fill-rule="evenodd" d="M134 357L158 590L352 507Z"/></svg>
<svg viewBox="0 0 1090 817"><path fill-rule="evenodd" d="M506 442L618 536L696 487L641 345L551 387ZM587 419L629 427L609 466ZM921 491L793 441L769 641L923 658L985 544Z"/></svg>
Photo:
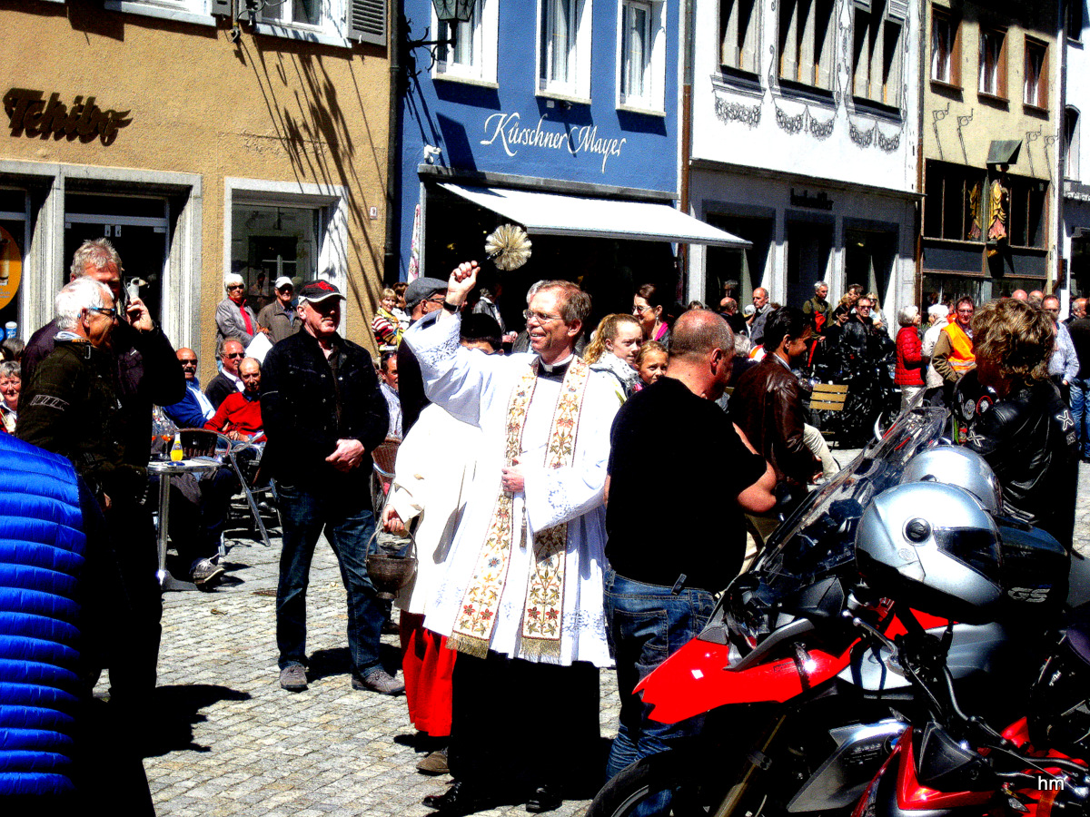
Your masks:
<svg viewBox="0 0 1090 817"><path fill-rule="evenodd" d="M706 714L699 741L629 766L598 792L588 817L848 813L906 729L899 710L915 702L893 655L868 647L844 618L868 621L886 637L905 632L859 580L859 521L883 491L921 478L913 472L921 452L964 451L935 448L947 424L944 410L905 413L780 525L700 636L637 686L655 720ZM994 478L961 476L997 511ZM1012 570L1017 565L1022 589L1032 593L1038 554L1066 554L1046 535L1002 527ZM942 632L947 622L923 617L923 624ZM985 710L1003 714L1009 687L997 688L993 673L1028 686L1025 649L998 622L957 623L952 671ZM758 736L752 745L750 735Z"/></svg>

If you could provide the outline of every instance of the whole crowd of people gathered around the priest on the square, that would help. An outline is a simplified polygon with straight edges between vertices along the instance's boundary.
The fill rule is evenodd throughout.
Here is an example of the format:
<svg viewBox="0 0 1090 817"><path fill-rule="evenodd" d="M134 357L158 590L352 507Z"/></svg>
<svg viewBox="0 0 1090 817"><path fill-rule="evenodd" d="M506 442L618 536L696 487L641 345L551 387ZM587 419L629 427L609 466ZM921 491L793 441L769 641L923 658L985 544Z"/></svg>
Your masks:
<svg viewBox="0 0 1090 817"><path fill-rule="evenodd" d="M590 331L590 295L545 280L516 333L498 288L480 288L465 263L447 280L382 291L376 361L339 333L332 284L296 291L280 278L254 314L231 276L216 310L218 371L202 389L196 353L171 346L120 270L109 242L81 246L56 320L20 363L0 364L3 428L66 458L95 499L110 554L96 581L113 592L96 594L88 667L109 669L126 715L145 711L161 613L153 419L219 435L275 486L280 687L307 688L306 589L324 534L347 590L351 685L405 694L428 749L417 768L452 775L424 801L443 815L558 807L573 771L594 768L602 668L616 667L621 696L603 773L700 729L652 721L633 688L700 632L753 557L746 516L774 526L836 472L800 371L893 356L903 406L950 406L959 441L996 472L1004 512L1071 544L1077 463L1090 456L1085 303L1069 325L1038 293L932 304L927 326L908 306L893 340L859 285L835 307L818 282L802 308L758 288L748 310L725 297L671 316L673 298L649 283L630 313ZM371 454L390 441L395 477L375 508ZM650 501L666 473L701 477L681 503ZM193 512L171 538L204 589L222 578L218 540L239 487L226 468L177 486ZM416 542L397 600L403 680L379 661L390 609L367 574L376 524Z"/></svg>

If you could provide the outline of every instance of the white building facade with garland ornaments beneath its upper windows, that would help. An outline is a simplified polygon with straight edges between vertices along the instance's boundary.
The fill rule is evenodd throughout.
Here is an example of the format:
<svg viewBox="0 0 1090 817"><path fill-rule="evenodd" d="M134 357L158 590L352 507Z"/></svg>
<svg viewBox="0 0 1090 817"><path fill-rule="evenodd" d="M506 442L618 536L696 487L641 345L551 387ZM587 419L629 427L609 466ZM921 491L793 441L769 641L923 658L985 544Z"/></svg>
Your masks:
<svg viewBox="0 0 1090 817"><path fill-rule="evenodd" d="M752 242L693 247L690 298L917 303L920 10L908 0L697 0L690 212Z"/></svg>

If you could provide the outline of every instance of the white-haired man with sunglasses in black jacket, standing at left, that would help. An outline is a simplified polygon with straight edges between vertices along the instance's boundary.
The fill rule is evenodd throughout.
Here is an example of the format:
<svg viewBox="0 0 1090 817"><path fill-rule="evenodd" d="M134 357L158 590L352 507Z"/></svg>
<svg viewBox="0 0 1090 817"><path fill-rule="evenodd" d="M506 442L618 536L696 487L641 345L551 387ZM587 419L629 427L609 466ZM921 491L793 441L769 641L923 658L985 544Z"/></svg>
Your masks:
<svg viewBox="0 0 1090 817"><path fill-rule="evenodd" d="M55 349L24 388L16 430L26 442L71 460L106 514L118 571L101 570L93 577L99 593L89 600L92 615L101 615L109 631L109 639L97 646L110 668L111 698L126 715L146 717L142 710L155 688L161 601L147 470L126 450L119 402L111 349L118 309L107 285L84 277L60 291L56 310ZM147 438L140 444L136 453L146 463Z"/></svg>

